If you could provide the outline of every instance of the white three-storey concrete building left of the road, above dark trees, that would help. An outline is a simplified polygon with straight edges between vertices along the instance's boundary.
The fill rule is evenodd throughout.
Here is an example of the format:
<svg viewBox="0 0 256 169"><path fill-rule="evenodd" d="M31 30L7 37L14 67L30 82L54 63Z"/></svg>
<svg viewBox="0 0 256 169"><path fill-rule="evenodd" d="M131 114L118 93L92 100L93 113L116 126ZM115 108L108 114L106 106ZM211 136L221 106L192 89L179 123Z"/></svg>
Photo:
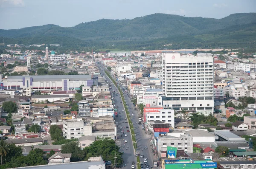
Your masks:
<svg viewBox="0 0 256 169"><path fill-rule="evenodd" d="M92 126L82 119L63 120L63 137L66 139L79 138L82 135L91 135Z"/></svg>

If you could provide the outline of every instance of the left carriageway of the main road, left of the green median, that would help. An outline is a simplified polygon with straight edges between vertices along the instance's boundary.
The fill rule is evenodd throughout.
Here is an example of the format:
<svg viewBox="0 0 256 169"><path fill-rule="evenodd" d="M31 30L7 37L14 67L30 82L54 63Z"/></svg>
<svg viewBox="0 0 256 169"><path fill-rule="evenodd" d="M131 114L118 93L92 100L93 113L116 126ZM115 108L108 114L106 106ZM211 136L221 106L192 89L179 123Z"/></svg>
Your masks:
<svg viewBox="0 0 256 169"><path fill-rule="evenodd" d="M103 68L103 66L100 66L100 67ZM103 70L103 73L105 74L105 70ZM111 80L108 78L108 76L106 74L105 74L105 77L108 82L111 82ZM112 84L112 82L111 82L111 87L112 87L112 91L115 91L115 93L118 93L117 88L115 87L115 85ZM131 169L131 162L134 161L136 164L137 157L135 157L135 155L134 155L131 134L130 134L130 132L127 132L127 130L130 130L130 127L126 128L126 126L129 126L129 124L125 123L125 118L127 118L127 117L126 117L126 113L124 111L122 111L125 109L123 107L123 104L120 103L120 102L122 102L122 99L119 97L120 97L120 94L118 94L118 96L113 94L115 106L118 106L118 117L115 118L115 121L118 123L117 133L119 133L119 135L118 135L119 139L117 140L117 144L120 146L120 151L124 152L124 154L122 156L122 158L124 160L124 164L126 164L126 167L124 167L124 168ZM119 111L120 111L120 114L119 114ZM120 119L120 116L121 116L121 119ZM121 127L122 127L122 129L121 129ZM122 137L121 137L121 134L122 134ZM125 134L127 134L126 137L125 137ZM123 140L124 141L126 140L127 143L125 143ZM128 149L126 149L127 147L128 147ZM123 165L121 167L123 168ZM137 166L135 166L135 168L137 168Z"/></svg>

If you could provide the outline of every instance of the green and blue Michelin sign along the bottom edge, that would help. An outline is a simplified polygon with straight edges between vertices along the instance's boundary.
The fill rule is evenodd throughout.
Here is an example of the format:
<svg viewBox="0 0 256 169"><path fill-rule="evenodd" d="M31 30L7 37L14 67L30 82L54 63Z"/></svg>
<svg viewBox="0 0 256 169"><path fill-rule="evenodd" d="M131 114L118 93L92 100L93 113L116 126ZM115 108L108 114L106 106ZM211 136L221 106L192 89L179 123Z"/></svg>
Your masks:
<svg viewBox="0 0 256 169"><path fill-rule="evenodd" d="M166 169L215 169L217 163L174 163L166 164Z"/></svg>

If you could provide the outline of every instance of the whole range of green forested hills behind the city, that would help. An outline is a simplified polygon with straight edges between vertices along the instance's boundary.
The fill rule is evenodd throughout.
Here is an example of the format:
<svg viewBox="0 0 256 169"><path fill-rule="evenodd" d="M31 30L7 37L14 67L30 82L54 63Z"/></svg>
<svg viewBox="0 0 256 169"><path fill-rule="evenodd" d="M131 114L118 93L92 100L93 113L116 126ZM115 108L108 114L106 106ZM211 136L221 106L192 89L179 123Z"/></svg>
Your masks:
<svg viewBox="0 0 256 169"><path fill-rule="evenodd" d="M175 48L184 45L189 48L193 44L194 47L201 48L205 45L235 48L239 45L253 45L256 37L256 13L231 14L222 19L151 14L132 20L102 19L70 28L43 25L12 30L0 29L0 36L8 38L6 42L58 43L63 46L100 48L109 48L113 43L115 47L126 48L158 49L169 43L173 43L172 47Z"/></svg>

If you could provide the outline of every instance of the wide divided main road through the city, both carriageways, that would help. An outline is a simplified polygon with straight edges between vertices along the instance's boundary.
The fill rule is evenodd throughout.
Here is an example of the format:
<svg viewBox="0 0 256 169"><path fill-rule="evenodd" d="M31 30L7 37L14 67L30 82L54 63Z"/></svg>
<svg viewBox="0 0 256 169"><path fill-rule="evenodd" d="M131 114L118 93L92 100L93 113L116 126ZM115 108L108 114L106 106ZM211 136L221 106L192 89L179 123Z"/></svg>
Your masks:
<svg viewBox="0 0 256 169"><path fill-rule="evenodd" d="M105 66L102 65L102 63L100 63L100 65L98 65L98 67L100 68L101 72L105 75L106 79L108 82L110 82L111 84L111 88L112 88L112 92L114 91L115 93L119 93L118 89L116 88L115 85L113 85L113 83L111 82L111 79L108 78L108 76L105 74ZM112 75L111 75L112 76ZM118 84L119 85L119 84ZM122 90L122 87L119 86L120 89ZM128 94L128 93L123 93L123 94ZM121 148L121 151L124 152L123 155L123 159L125 161L125 164L127 165L128 169L131 169L131 162L132 161L137 161L137 157L135 157L134 155L134 149L133 149L133 142L131 139L131 134L127 132L127 130L130 130L128 128L126 128L126 126L128 126L128 123L125 123L125 118L127 118L126 114L124 111L124 107L122 102L122 99L120 97L120 93L116 96L113 94L113 99L115 101L115 107L118 107L118 118L116 118L116 122L118 123L118 130L117 133L119 133L118 135L118 145ZM128 104L128 109L131 114L134 114L134 117L130 117L131 121L133 123L134 126L134 132L136 134L136 141L137 141L137 149L136 151L139 151L141 155L144 155L144 157L147 157L147 163L149 164L149 166L153 166L153 160L157 159L156 157L154 157L154 155L151 152L151 135L148 135L148 133L145 133L144 130L142 130L141 125L138 124L139 122L139 111L138 110L134 110L134 105L131 101L131 99L129 98L129 94L127 96L125 96L125 102L126 104ZM120 111L120 114L119 114ZM121 118L120 118L121 116ZM121 129L122 127L122 129ZM124 128L125 127L125 128ZM124 130L123 134L122 134L122 130ZM122 134L122 136L121 136ZM125 134L127 134L127 136L125 137ZM124 141L127 140L128 143L125 143L124 146ZM129 148L126 150L127 146L129 146ZM147 147L147 149L145 149L145 146ZM141 163L144 163L144 158L140 158ZM135 166L136 167L136 166ZM144 168L146 168L146 166L144 165Z"/></svg>

